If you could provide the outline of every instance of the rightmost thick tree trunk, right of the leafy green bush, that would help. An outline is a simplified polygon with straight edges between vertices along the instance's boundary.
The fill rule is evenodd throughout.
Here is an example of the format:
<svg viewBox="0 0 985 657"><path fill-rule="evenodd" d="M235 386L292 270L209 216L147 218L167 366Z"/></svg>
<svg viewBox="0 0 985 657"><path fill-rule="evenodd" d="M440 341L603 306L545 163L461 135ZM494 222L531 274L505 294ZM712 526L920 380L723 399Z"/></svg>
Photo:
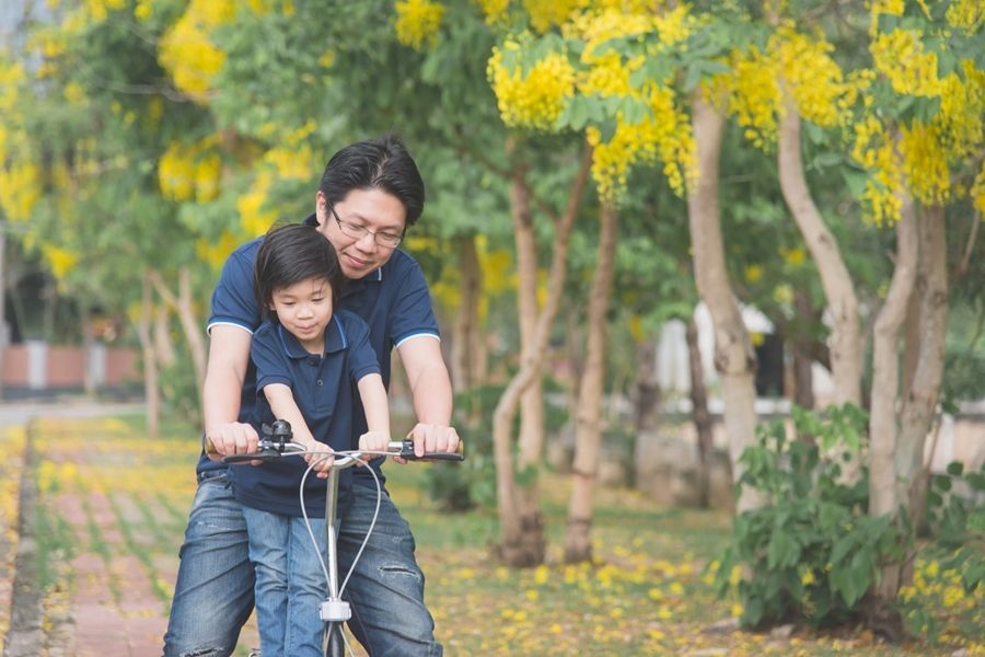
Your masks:
<svg viewBox="0 0 985 657"><path fill-rule="evenodd" d="M927 476L924 443L934 423L943 377L945 337L948 315L948 250L945 212L931 206L919 216L920 243L917 278L920 285L919 356L913 381L903 397L900 442L896 446L896 491L906 502L912 526L919 525L926 509ZM912 566L911 566L912 567ZM908 580L908 577L907 577Z"/></svg>

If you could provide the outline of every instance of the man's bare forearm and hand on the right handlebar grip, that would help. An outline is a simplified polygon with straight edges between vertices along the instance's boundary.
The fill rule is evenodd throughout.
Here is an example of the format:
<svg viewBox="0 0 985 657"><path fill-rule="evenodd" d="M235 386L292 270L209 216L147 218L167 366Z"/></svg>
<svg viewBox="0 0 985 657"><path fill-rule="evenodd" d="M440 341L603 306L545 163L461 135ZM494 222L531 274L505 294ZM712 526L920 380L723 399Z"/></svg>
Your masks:
<svg viewBox="0 0 985 657"><path fill-rule="evenodd" d="M452 387L441 345L429 335L412 337L397 347L407 373L417 425L410 431L414 453L455 451L459 434L451 427Z"/></svg>

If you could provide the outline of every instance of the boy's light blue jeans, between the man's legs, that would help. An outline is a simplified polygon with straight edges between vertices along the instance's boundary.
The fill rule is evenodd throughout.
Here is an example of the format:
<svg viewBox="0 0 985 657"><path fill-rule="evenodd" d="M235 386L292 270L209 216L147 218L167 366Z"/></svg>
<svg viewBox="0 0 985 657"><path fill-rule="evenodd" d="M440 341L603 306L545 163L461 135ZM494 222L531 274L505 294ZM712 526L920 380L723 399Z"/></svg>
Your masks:
<svg viewBox="0 0 985 657"><path fill-rule="evenodd" d="M250 561L256 572L256 623L260 653L320 657L323 622L318 604L327 586L318 564L325 554L325 519L303 518L243 507L250 533ZM317 548L312 543L312 535Z"/></svg>

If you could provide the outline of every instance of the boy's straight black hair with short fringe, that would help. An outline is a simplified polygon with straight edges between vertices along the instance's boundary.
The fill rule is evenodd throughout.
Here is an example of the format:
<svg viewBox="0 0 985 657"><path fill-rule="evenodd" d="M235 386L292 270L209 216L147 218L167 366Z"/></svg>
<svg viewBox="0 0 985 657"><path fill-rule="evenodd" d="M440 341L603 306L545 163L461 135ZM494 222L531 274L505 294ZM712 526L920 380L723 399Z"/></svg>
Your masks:
<svg viewBox="0 0 985 657"><path fill-rule="evenodd" d="M332 242L313 226L289 223L270 228L253 267L253 291L264 318L277 319L270 309L275 291L309 278L328 281L332 308L337 308L346 278Z"/></svg>

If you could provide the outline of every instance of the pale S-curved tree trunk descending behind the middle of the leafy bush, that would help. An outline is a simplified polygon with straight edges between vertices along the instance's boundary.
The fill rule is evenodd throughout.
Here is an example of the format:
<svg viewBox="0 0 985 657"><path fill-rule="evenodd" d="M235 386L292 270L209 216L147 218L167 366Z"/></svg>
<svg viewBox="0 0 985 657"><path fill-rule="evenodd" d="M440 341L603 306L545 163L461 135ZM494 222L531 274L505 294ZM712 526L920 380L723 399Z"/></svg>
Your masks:
<svg viewBox="0 0 985 657"><path fill-rule="evenodd" d="M783 88L783 82L780 84ZM831 370L837 405L861 406L862 336L859 330L858 299L848 267L834 234L827 229L803 173L800 149L800 115L789 93L784 94L786 112L779 127L779 182L787 207L807 242L818 266L821 286L831 312ZM843 448L836 448L838 452ZM838 454L841 456L841 454ZM842 462L843 476L856 482L861 476L859 454Z"/></svg>

